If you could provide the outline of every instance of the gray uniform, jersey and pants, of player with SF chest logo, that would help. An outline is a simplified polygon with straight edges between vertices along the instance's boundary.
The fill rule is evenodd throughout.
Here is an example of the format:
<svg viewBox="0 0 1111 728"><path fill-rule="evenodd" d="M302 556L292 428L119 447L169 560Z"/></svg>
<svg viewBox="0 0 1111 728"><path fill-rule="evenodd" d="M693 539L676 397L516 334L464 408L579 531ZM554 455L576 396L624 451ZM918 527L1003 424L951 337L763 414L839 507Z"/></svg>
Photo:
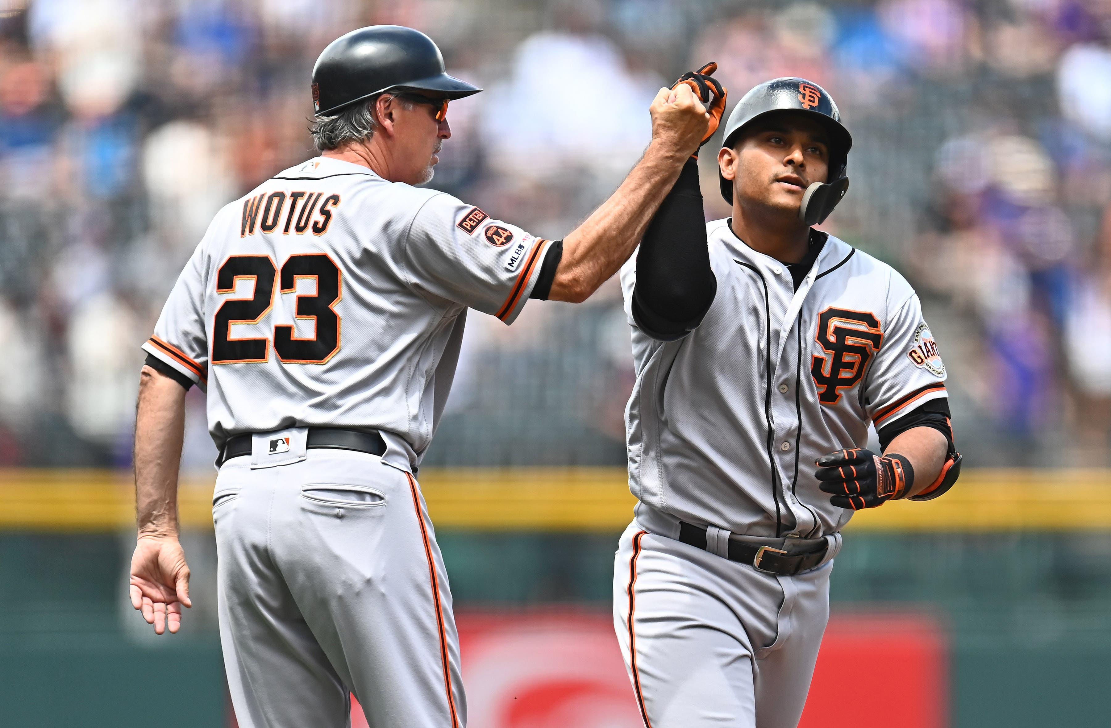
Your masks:
<svg viewBox="0 0 1111 728"><path fill-rule="evenodd" d="M814 460L944 397L945 370L914 291L871 256L830 237L795 290L788 267L727 220L709 223L708 242L717 295L675 340L637 325L635 262L622 270L640 502L614 560L613 625L645 726L788 728L852 515L819 490ZM678 539L680 520L707 529L705 550ZM734 538L825 550L817 568L782 576L723 558Z"/></svg>

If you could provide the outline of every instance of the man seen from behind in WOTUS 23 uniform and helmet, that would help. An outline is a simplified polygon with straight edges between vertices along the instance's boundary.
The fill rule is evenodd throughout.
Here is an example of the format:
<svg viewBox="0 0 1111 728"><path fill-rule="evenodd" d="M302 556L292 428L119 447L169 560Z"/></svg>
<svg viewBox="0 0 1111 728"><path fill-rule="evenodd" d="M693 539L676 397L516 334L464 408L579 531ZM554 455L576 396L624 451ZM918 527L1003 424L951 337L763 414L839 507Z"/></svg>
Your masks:
<svg viewBox="0 0 1111 728"><path fill-rule="evenodd" d="M451 595L416 478L467 309L512 323L530 298L584 300L724 108L661 89L643 158L552 242L413 187L451 136L449 101L478 91L409 28L329 44L312 72L321 156L216 216L143 345L131 600L158 634L190 606L177 472L198 385L220 449L220 636L242 728L346 726L351 691L374 728L466 725Z"/></svg>

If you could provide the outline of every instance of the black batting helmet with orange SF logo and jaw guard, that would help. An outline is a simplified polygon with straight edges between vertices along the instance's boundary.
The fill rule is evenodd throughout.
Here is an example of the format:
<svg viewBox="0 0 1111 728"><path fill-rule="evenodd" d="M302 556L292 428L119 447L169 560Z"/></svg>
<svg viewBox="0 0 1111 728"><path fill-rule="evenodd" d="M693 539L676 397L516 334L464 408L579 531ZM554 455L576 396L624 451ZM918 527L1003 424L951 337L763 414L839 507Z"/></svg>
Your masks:
<svg viewBox="0 0 1111 728"><path fill-rule="evenodd" d="M833 211L849 190L847 167L852 137L841 124L841 112L825 89L800 78L779 78L765 81L744 94L725 122L722 147L732 147L744 128L778 111L798 111L818 120L830 136L830 163L828 183L814 182L807 188L799 207L799 217L807 225L820 225ZM718 172L719 177L721 172ZM732 182L720 177L721 196L733 202Z"/></svg>

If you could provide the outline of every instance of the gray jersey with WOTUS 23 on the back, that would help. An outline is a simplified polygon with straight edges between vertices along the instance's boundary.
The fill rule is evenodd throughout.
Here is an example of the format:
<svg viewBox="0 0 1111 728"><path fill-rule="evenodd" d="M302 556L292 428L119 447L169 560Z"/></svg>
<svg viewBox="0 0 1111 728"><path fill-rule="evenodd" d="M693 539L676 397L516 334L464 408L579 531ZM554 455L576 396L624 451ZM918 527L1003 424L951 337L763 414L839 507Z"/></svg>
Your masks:
<svg viewBox="0 0 1111 728"><path fill-rule="evenodd" d="M511 323L547 240L436 190L317 158L224 207L144 345L239 432L370 427L417 466L443 409L466 309Z"/></svg>

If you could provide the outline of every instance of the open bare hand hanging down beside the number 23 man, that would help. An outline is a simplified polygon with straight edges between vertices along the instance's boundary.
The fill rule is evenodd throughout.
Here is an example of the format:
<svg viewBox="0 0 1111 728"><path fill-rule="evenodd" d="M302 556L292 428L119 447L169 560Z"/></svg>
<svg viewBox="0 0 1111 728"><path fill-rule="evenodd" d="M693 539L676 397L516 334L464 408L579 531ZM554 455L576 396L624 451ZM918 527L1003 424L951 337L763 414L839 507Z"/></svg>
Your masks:
<svg viewBox="0 0 1111 728"><path fill-rule="evenodd" d="M181 629L181 606L189 600L189 566L174 536L139 536L131 557L131 606L142 610L154 634Z"/></svg>

